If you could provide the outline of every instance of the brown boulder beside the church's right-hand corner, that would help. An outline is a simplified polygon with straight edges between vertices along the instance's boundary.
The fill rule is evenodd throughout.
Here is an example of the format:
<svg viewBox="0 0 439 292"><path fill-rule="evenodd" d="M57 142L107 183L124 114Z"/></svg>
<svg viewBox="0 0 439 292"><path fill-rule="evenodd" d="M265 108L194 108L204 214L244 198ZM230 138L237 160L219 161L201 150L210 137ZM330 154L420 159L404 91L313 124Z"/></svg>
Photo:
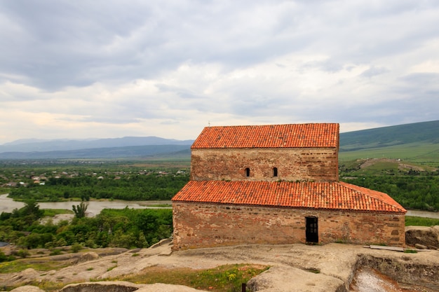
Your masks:
<svg viewBox="0 0 439 292"><path fill-rule="evenodd" d="M439 247L439 226L407 226L405 228L405 244L409 246L422 244L437 249Z"/></svg>

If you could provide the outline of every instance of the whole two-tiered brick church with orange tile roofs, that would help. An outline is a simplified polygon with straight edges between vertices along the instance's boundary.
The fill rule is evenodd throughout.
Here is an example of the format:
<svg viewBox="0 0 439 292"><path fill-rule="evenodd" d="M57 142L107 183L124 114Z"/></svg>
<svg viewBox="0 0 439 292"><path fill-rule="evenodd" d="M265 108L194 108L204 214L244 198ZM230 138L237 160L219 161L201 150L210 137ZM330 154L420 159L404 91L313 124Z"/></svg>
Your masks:
<svg viewBox="0 0 439 292"><path fill-rule="evenodd" d="M405 245L405 212L339 181L339 124L205 127L173 197L174 250L238 244Z"/></svg>

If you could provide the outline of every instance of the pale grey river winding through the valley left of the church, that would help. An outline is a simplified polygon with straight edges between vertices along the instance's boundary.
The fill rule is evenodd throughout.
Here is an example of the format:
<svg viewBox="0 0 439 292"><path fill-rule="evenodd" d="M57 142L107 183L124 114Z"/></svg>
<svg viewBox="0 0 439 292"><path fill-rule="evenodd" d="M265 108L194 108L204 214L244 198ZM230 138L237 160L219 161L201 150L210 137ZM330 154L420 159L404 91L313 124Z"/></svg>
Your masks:
<svg viewBox="0 0 439 292"><path fill-rule="evenodd" d="M80 202L39 202L40 209L66 209L72 210L73 205ZM87 202L88 216L95 216L100 214L102 209L123 209L128 207L130 209L161 209L161 207L154 207L154 204L171 204L171 201L123 201L123 200L104 200L104 201L89 201ZM152 206L151 206L152 205ZM15 202L8 194L0 195L0 213L12 212L13 209L20 209L25 206L23 202ZM170 207L163 207L170 208Z"/></svg>

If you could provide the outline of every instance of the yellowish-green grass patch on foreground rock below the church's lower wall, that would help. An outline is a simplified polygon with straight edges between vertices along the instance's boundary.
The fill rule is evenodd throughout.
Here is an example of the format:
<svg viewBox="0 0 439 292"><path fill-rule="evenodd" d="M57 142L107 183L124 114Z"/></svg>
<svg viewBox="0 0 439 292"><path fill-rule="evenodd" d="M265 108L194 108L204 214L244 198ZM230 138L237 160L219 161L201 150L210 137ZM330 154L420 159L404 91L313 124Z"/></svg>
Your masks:
<svg viewBox="0 0 439 292"><path fill-rule="evenodd" d="M137 284L178 284L201 290L229 292L241 291L241 284L268 270L267 265L222 265L208 270L179 268L169 270L163 267L148 267L140 274L119 277L118 280Z"/></svg>

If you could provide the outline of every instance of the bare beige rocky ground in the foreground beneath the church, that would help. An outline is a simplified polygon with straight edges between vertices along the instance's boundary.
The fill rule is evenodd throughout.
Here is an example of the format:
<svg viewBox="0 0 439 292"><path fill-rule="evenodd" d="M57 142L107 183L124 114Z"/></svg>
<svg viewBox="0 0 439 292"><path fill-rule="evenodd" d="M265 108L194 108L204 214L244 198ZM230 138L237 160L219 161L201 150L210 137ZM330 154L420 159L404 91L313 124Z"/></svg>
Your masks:
<svg viewBox="0 0 439 292"><path fill-rule="evenodd" d="M435 229L439 230L439 227ZM419 234L416 233L414 237L419 237ZM248 282L251 291L349 291L353 275L360 267L386 274L399 283L423 286L423 290L419 291L439 291L439 251L433 249L403 253L352 244L288 244L243 245L171 252L170 242L163 241L149 249L96 249L50 256L46 257L46 260L67 261L69 266L49 272L27 269L18 273L0 274L0 290L2 286L21 286L21 290L14 292L35 291L36 287L25 285L53 281L66 285L81 283L66 286L63 292L196 291L183 286L124 284L105 280L136 274L153 266L163 269L208 269L226 264L252 263L270 265L271 268ZM93 282L89 283L90 280ZM97 286L100 285L104 287L98 289Z"/></svg>

